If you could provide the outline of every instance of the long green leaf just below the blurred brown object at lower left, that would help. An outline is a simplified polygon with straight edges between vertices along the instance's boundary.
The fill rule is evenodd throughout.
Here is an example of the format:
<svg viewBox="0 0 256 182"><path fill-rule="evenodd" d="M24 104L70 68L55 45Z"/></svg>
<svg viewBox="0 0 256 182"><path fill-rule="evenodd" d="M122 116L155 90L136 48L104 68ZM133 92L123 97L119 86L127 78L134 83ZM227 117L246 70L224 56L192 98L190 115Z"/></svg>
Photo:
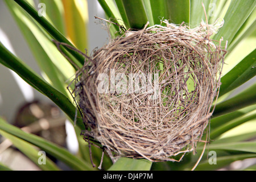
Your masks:
<svg viewBox="0 0 256 182"><path fill-rule="evenodd" d="M84 160L78 158L75 155L72 155L70 152L65 150L65 148L58 147L56 144L52 142L48 142L47 140L40 138L34 134L28 134L24 131L18 129L17 127L10 125L3 121L0 118L0 130L5 131L7 134L13 135L14 137L18 137L27 141L35 146L41 148L47 154L55 156L57 159L63 161L69 167L76 170L92 170L92 164L86 163Z"/></svg>

